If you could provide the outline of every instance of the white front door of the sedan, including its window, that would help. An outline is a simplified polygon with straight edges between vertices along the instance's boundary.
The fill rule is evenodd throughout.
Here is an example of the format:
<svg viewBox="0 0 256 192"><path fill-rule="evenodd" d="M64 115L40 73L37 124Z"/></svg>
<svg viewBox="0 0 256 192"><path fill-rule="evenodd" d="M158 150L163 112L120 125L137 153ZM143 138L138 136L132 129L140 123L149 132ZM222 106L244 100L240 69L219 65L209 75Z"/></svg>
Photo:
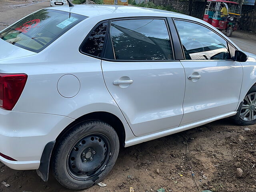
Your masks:
<svg viewBox="0 0 256 192"><path fill-rule="evenodd" d="M234 48L204 25L174 20L184 49L186 90L181 126L234 112L242 86L242 65Z"/></svg>

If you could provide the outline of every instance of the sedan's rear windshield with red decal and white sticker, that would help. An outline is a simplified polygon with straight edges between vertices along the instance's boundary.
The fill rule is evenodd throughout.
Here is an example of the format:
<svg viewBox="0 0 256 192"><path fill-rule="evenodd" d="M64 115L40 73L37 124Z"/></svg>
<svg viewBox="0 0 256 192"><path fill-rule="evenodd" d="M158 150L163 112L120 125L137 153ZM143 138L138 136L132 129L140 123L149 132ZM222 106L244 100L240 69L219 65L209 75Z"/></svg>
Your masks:
<svg viewBox="0 0 256 192"><path fill-rule="evenodd" d="M0 38L38 53L85 18L69 12L42 9L3 30Z"/></svg>

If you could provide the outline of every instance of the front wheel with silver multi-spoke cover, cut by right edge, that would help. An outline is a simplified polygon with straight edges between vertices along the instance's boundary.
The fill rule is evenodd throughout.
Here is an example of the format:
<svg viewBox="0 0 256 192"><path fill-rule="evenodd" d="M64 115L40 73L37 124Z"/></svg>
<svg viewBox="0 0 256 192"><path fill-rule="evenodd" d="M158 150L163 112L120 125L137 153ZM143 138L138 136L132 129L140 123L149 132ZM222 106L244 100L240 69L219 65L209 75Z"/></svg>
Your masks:
<svg viewBox="0 0 256 192"><path fill-rule="evenodd" d="M250 100L249 100L250 98ZM251 103L250 103L251 101ZM250 88L247 92L244 103L239 111L239 118L234 122L238 125L246 126L256 124L256 86Z"/></svg>

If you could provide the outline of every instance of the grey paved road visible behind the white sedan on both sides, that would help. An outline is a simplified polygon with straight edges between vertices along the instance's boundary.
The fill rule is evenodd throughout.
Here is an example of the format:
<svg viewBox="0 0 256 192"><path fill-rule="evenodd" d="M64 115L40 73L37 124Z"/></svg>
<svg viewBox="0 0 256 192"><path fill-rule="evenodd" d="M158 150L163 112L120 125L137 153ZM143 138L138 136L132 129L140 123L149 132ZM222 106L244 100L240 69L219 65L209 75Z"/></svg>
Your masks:
<svg viewBox="0 0 256 192"><path fill-rule="evenodd" d="M34 3L38 2L38 3ZM0 30L20 18L49 6L49 0L0 0ZM234 32L234 41L242 50L256 54L256 35L248 32Z"/></svg>

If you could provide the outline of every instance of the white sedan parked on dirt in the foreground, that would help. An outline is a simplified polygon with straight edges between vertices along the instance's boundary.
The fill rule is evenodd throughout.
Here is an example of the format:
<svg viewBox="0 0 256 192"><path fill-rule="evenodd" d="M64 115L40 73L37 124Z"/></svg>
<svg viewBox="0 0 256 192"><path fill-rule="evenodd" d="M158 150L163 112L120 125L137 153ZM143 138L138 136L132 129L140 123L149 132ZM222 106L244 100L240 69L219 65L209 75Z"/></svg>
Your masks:
<svg viewBox="0 0 256 192"><path fill-rule="evenodd" d="M0 32L0 160L70 189L125 147L256 122L256 56L210 24L132 6L59 6Z"/></svg>

